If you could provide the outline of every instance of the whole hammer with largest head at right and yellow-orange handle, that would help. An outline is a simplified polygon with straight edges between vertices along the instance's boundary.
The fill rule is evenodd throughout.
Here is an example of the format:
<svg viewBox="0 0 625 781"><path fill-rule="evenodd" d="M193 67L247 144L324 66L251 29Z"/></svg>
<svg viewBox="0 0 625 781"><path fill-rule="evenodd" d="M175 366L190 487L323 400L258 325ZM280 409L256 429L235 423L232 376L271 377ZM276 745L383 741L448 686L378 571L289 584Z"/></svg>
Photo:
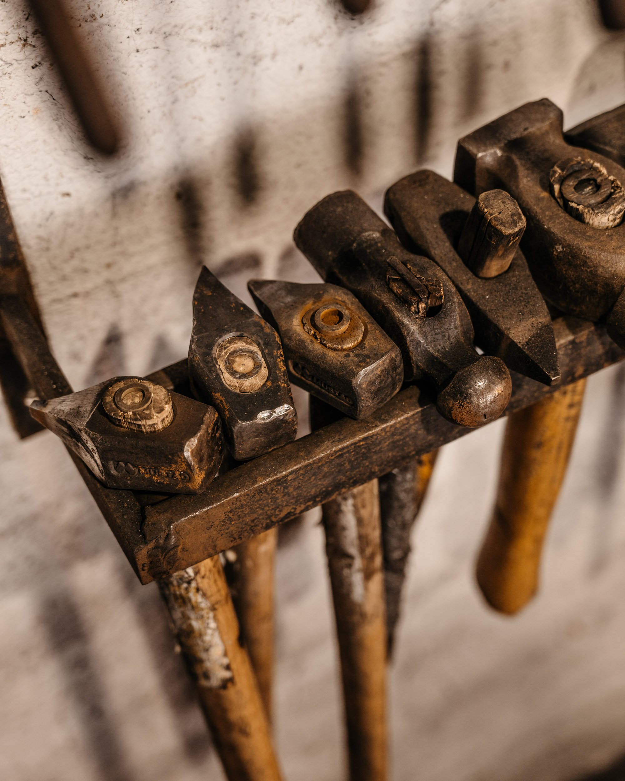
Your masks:
<svg viewBox="0 0 625 781"><path fill-rule="evenodd" d="M479 195L501 187L527 219L523 252L545 299L597 322L625 345L625 170L572 147L551 101L528 103L458 144L455 181ZM495 512L477 580L496 609L514 613L538 587L541 549L573 447L585 380L510 415Z"/></svg>

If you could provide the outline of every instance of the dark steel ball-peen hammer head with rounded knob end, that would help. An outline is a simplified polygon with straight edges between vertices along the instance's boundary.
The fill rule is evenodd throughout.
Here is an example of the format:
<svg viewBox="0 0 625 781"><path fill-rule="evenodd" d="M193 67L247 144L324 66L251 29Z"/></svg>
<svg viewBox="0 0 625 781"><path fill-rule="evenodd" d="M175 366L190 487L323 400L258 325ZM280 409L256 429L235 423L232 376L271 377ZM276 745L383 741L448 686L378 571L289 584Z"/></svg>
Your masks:
<svg viewBox="0 0 625 781"><path fill-rule="evenodd" d="M469 313L451 280L430 259L403 248L359 195L347 190L323 198L294 237L320 276L352 291L397 344L405 380L434 386L443 415L481 426L502 414L512 391L508 369L475 351Z"/></svg>

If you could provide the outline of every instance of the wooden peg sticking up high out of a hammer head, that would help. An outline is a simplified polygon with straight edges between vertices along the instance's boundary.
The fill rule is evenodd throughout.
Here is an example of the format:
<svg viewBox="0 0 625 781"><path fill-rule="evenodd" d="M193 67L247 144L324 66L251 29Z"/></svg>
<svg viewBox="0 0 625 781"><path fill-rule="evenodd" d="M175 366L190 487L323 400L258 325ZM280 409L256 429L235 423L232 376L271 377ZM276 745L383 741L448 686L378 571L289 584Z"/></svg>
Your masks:
<svg viewBox="0 0 625 781"><path fill-rule="evenodd" d="M471 209L458 254L476 276L499 276L508 270L524 230L525 217L512 195L489 190Z"/></svg>

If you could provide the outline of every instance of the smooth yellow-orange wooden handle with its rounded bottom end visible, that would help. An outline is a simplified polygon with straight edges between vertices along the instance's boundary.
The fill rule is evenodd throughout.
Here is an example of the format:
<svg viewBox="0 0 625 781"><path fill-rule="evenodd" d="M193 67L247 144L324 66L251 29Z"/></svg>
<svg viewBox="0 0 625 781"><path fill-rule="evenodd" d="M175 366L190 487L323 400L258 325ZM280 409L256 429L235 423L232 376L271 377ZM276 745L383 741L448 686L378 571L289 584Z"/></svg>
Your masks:
<svg viewBox="0 0 625 781"><path fill-rule="evenodd" d="M538 588L541 551L580 417L586 380L508 419L495 511L477 559L491 607L513 614Z"/></svg>

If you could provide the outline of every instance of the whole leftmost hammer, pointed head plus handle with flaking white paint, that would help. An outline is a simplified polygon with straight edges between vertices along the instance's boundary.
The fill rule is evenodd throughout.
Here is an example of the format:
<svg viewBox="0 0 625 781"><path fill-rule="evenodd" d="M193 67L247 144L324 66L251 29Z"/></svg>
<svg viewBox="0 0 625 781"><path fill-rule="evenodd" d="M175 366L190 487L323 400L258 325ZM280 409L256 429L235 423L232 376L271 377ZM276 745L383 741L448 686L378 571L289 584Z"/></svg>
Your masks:
<svg viewBox="0 0 625 781"><path fill-rule="evenodd" d="M44 341L34 320L30 333ZM137 499L149 503L162 499L163 492L200 490L215 476L223 447L212 407L137 377L116 377L71 393L57 375L66 394L34 401L32 414L109 487L134 488ZM183 470L190 476L181 484ZM269 722L219 556L162 578L159 590L227 778L280 781Z"/></svg>

